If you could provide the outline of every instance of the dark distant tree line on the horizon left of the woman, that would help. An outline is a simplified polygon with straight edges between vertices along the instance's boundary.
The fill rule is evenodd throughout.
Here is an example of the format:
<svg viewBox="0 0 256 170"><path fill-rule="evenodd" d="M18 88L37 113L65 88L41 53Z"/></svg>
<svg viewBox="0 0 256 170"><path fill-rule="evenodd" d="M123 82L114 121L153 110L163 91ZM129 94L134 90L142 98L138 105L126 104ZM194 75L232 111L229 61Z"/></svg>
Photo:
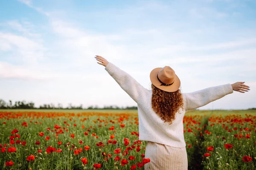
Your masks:
<svg viewBox="0 0 256 170"><path fill-rule="evenodd" d="M9 102L4 101L3 99L0 99L0 109L138 109L137 106L132 107L118 107L116 105L114 106L104 106L103 108L99 108L98 105L91 105L87 108L83 108L83 105L74 106L72 103L69 103L67 107L63 107L61 103L58 103L58 106L55 106L54 104L44 104L40 105L38 108L35 107L34 102L26 102L26 101L15 101L12 102L12 100L9 100Z"/></svg>

